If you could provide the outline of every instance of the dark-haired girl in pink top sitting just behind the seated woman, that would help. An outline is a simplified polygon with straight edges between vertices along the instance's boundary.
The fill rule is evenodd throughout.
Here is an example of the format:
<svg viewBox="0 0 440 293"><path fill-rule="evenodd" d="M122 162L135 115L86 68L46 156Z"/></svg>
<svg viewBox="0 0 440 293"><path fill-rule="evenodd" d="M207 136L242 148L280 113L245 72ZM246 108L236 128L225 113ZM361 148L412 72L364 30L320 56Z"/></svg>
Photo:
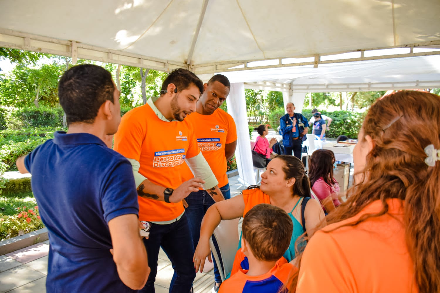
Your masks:
<svg viewBox="0 0 440 293"><path fill-rule="evenodd" d="M309 163L309 178L312 191L321 202L324 211L330 213L341 204L339 184L333 178L334 153L328 149L317 149Z"/></svg>

